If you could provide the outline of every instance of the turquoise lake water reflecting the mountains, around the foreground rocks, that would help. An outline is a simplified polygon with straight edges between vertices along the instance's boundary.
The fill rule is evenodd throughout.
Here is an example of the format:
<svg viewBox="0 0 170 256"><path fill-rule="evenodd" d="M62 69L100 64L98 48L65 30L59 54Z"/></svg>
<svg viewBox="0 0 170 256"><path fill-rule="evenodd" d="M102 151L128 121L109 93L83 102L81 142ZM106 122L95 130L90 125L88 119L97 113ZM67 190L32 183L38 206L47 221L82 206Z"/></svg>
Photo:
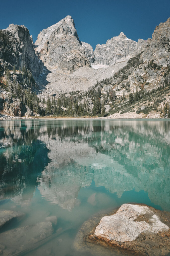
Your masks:
<svg viewBox="0 0 170 256"><path fill-rule="evenodd" d="M0 232L56 216L51 239L15 255L98 255L75 246L82 224L130 202L170 211L169 170L170 120L2 120L0 210L25 217Z"/></svg>

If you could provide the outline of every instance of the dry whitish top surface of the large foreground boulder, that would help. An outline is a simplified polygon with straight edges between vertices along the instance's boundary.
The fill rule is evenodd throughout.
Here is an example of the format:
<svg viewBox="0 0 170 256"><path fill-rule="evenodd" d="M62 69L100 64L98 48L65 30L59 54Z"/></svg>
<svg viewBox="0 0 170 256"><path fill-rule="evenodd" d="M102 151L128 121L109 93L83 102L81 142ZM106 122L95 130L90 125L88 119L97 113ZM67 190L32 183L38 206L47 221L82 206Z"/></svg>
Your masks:
<svg viewBox="0 0 170 256"><path fill-rule="evenodd" d="M138 216L150 214L149 223L136 221ZM158 233L169 230L147 206L123 204L116 214L104 216L96 227L95 236L115 241L133 241L142 232Z"/></svg>

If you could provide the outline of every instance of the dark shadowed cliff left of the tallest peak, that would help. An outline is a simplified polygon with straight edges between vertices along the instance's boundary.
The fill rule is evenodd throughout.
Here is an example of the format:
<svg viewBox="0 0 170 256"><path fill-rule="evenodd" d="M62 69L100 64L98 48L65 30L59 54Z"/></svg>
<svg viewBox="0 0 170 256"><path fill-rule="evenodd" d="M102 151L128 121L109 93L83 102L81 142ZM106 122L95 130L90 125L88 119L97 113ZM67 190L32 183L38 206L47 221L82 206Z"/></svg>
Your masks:
<svg viewBox="0 0 170 256"><path fill-rule="evenodd" d="M0 50L2 62L6 63L11 69L14 65L17 70L25 66L31 70L35 77L38 77L42 72L42 65L35 55L29 30L23 25L10 24L1 33L4 35L7 44L6 49Z"/></svg>

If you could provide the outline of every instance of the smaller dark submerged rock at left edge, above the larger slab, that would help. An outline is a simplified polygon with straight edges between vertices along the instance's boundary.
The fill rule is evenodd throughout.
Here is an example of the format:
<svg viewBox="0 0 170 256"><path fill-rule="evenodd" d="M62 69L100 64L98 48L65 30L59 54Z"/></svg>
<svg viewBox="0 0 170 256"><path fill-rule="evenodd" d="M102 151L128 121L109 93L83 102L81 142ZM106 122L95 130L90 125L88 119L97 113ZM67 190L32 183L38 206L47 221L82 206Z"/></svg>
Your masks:
<svg viewBox="0 0 170 256"><path fill-rule="evenodd" d="M25 214L19 211L1 210L0 211L0 228L13 219L21 219Z"/></svg>

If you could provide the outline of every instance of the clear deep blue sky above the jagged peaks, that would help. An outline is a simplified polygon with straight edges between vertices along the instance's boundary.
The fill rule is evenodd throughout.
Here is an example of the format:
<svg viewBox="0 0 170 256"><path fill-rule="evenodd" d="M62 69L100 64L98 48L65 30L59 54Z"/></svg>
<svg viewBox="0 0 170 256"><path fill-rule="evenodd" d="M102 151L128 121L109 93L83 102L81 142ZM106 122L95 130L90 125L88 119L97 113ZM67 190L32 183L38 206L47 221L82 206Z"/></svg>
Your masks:
<svg viewBox="0 0 170 256"><path fill-rule="evenodd" d="M135 41L148 39L160 22L170 17L170 1L157 0L2 0L0 28L14 23L24 25L33 40L67 15L74 19L79 39L97 44L120 34Z"/></svg>

